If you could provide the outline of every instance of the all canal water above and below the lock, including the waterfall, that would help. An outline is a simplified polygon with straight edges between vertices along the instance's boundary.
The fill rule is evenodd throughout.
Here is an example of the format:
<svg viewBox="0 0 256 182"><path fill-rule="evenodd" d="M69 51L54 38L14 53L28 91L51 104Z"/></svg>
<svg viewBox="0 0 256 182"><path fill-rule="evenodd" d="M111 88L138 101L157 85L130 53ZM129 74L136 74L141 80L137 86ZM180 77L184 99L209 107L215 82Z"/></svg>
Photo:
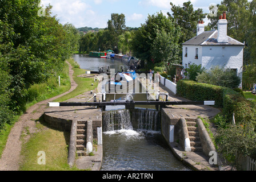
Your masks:
<svg viewBox="0 0 256 182"><path fill-rule="evenodd" d="M110 65L119 68L121 62L74 55L82 69L98 71ZM146 95L133 95L134 100L146 100ZM107 100L123 100L126 94ZM122 110L119 110L122 109ZM185 171L190 170L170 151L159 131L159 115L154 108L138 108L130 113L111 107L103 113L102 171Z"/></svg>

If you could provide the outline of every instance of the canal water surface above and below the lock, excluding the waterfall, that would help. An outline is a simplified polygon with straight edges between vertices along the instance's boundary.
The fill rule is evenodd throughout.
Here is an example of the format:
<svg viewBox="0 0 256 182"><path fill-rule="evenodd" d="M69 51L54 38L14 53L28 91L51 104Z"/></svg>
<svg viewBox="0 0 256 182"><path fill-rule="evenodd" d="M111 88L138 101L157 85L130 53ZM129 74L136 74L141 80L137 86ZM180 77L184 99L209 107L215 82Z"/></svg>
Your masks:
<svg viewBox="0 0 256 182"><path fill-rule="evenodd" d="M98 71L98 67L109 65L117 72L119 65L123 65L116 60L91 58L82 55L74 55L73 58L82 69L90 71ZM115 96L115 99L124 100L125 97L127 95L123 94ZM133 97L135 97L134 100L146 100L146 95L135 94ZM113 96L107 99L113 100ZM107 110L117 109L123 108L111 107ZM133 128L133 126L129 126L103 131L102 171L190 170L175 158L160 131L139 129L139 127Z"/></svg>

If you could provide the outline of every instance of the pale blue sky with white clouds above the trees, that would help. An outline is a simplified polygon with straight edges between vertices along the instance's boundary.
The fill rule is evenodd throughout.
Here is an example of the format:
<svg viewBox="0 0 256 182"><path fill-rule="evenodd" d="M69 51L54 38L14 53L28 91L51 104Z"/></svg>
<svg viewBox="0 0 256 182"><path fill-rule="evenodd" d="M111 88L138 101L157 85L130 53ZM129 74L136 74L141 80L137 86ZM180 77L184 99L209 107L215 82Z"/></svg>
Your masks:
<svg viewBox="0 0 256 182"><path fill-rule="evenodd" d="M76 28L93 27L106 28L111 13L125 14L127 27L140 27L148 15L171 13L172 2L183 6L189 0L41 0L41 5L52 5L53 15L62 24L71 23ZM220 4L221 0L190 0L194 9L201 8L209 13L211 3ZM172 14L172 13L171 13ZM204 19L207 23L207 18Z"/></svg>

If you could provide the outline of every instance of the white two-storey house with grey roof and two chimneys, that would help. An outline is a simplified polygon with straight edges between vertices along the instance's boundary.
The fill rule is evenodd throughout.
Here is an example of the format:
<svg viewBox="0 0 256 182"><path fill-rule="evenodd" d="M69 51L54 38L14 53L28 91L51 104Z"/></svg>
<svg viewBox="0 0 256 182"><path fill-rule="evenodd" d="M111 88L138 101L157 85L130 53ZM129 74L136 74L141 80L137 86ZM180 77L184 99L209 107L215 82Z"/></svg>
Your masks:
<svg viewBox="0 0 256 182"><path fill-rule="evenodd" d="M197 25L197 36L183 43L182 66L201 64L210 69L213 66L234 69L241 77L243 71L244 44L227 36L226 13L218 20L218 30L205 31L203 21ZM242 88L242 82L239 85Z"/></svg>

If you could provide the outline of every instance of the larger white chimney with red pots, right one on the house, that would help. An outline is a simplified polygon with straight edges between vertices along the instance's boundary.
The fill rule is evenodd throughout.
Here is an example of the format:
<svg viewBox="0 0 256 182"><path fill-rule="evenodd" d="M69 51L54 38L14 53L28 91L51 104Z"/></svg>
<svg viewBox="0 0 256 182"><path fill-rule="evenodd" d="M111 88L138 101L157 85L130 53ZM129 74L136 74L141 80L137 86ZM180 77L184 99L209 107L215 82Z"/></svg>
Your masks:
<svg viewBox="0 0 256 182"><path fill-rule="evenodd" d="M227 43L228 42L226 12L223 12L223 15L219 16L217 41L219 43Z"/></svg>

